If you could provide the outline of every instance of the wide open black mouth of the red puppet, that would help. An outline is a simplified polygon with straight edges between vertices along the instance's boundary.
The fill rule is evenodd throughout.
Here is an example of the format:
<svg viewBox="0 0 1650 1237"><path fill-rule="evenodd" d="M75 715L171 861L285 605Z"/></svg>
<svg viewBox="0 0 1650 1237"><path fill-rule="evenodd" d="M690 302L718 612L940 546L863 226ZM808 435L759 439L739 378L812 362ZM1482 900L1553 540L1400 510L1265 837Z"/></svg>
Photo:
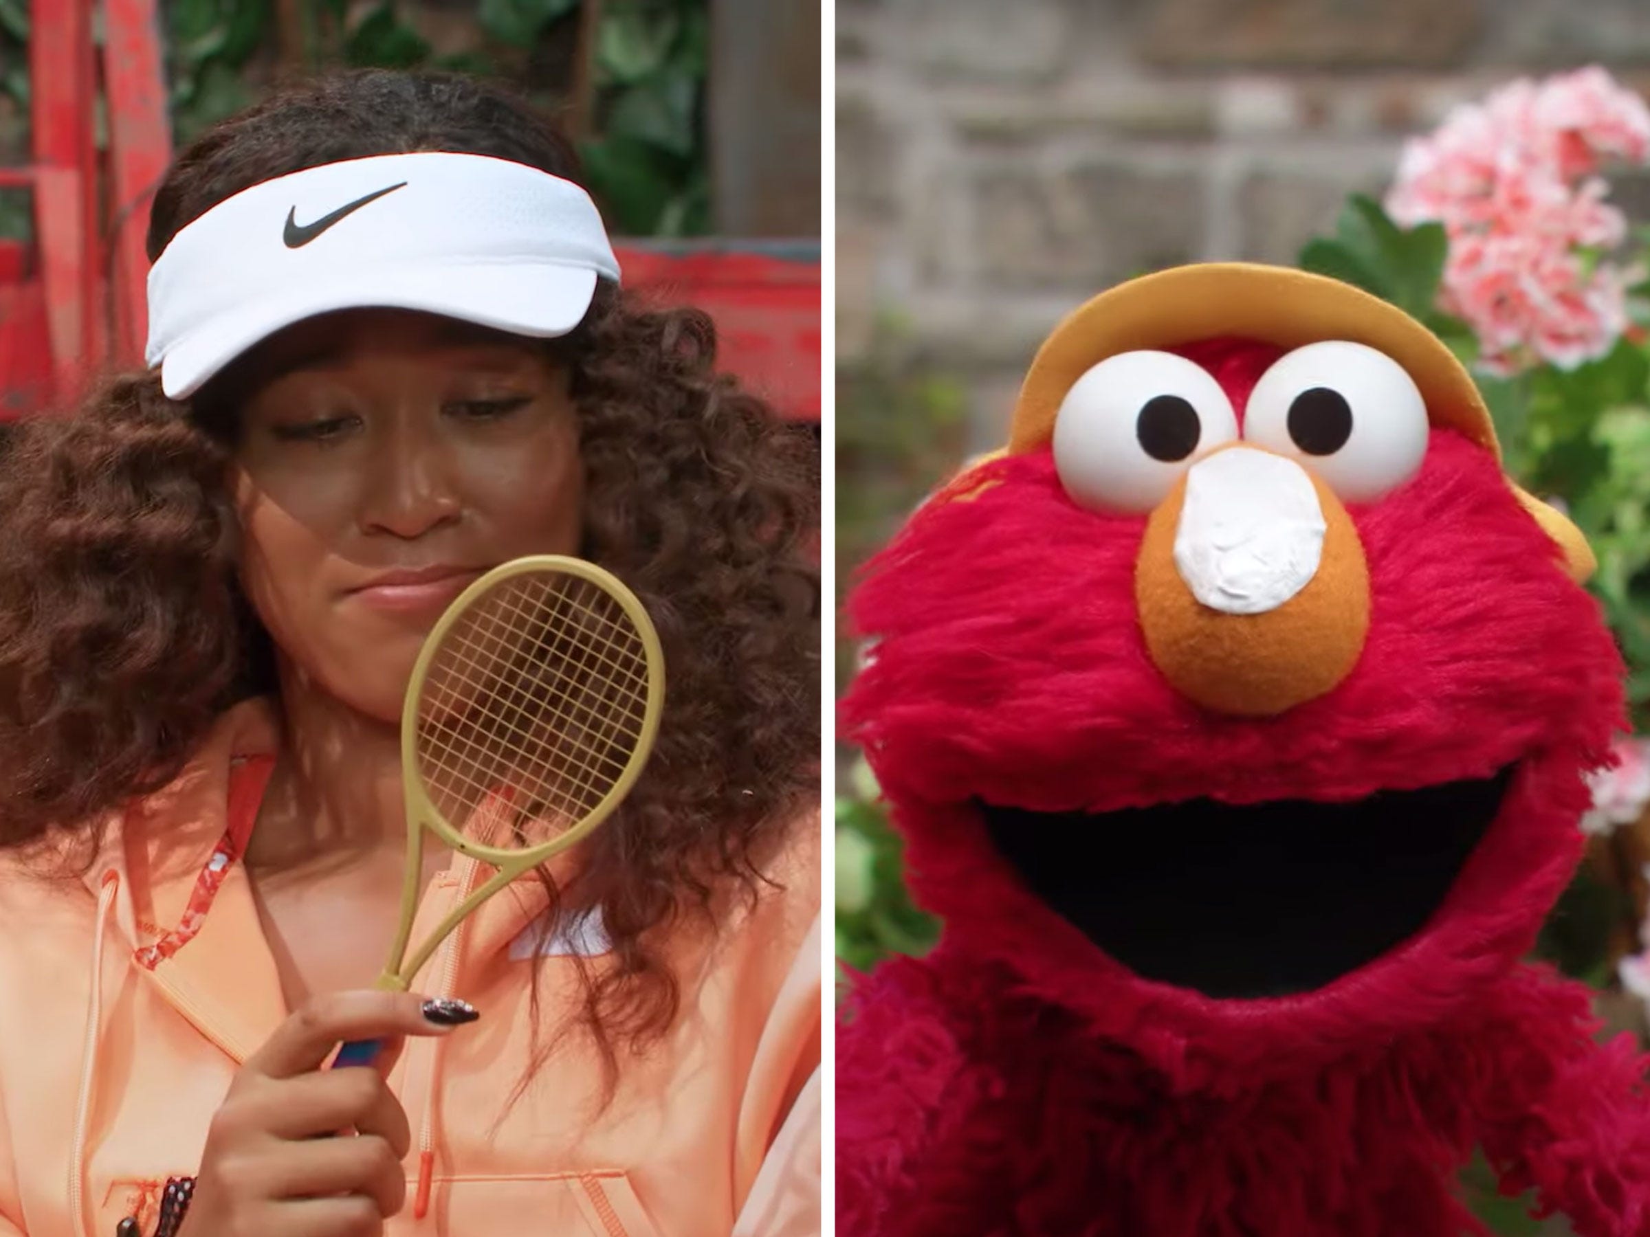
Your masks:
<svg viewBox="0 0 1650 1237"><path fill-rule="evenodd" d="M1322 988L1419 932L1511 772L1355 803L980 810L1031 892L1107 955L1148 980L1252 999Z"/></svg>

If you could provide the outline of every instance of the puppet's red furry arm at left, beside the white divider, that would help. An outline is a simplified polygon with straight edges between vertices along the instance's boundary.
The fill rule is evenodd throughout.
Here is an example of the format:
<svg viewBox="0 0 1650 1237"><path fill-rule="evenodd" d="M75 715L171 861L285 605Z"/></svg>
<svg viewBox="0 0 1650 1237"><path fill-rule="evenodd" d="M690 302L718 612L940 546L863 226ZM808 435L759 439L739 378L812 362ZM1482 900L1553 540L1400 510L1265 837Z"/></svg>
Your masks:
<svg viewBox="0 0 1650 1237"><path fill-rule="evenodd" d="M982 1176L965 1155L990 1072L967 1061L927 962L860 976L837 1028L837 1232L919 1237L980 1230Z"/></svg>

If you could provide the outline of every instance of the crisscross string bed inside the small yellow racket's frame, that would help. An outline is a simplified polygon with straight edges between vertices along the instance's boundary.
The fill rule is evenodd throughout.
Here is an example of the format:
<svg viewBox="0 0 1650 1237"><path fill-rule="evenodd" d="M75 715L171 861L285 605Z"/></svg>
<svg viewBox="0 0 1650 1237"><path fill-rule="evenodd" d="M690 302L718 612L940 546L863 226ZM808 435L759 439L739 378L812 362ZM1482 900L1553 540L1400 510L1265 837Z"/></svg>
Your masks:
<svg viewBox="0 0 1650 1237"><path fill-rule="evenodd" d="M513 844L538 844L546 838L535 831L582 818L624 775L647 693L645 645L610 594L576 576L510 577L431 661L417 711L421 780L449 820L470 820L505 793Z"/></svg>

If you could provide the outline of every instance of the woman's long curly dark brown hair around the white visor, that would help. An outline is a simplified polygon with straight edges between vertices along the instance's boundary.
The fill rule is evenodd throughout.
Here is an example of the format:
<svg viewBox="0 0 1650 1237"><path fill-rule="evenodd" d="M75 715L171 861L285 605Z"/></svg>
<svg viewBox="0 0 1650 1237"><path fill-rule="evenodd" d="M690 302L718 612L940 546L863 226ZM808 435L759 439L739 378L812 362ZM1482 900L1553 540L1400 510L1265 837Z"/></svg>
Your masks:
<svg viewBox="0 0 1650 1237"><path fill-rule="evenodd" d="M497 87L343 74L190 145L155 196L150 257L251 185L414 150L578 180L571 147ZM612 1065L610 1042L675 1018L650 932L710 912L726 887L754 892L817 793L818 444L716 371L716 333L696 310L604 284L582 325L546 346L571 369L579 416L582 553L642 597L670 666L652 762L592 840L579 891L617 958L586 973L584 1023ZM116 378L76 416L15 432L0 462L0 846L92 835L109 808L177 777L224 708L276 689L269 635L236 582L233 447L210 393L172 401L155 374Z"/></svg>

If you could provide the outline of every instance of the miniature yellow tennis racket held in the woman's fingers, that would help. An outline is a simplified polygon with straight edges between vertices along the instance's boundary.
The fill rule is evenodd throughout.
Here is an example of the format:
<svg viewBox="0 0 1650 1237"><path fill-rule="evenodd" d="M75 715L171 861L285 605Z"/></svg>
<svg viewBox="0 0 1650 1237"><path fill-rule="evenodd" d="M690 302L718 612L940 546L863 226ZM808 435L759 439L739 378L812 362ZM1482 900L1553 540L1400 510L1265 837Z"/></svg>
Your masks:
<svg viewBox="0 0 1650 1237"><path fill-rule="evenodd" d="M523 557L467 587L424 640L401 709L408 864L376 986L406 991L469 914L607 820L647 764L663 703L658 633L601 567ZM408 953L426 830L497 871ZM345 1044L333 1067L378 1049Z"/></svg>

